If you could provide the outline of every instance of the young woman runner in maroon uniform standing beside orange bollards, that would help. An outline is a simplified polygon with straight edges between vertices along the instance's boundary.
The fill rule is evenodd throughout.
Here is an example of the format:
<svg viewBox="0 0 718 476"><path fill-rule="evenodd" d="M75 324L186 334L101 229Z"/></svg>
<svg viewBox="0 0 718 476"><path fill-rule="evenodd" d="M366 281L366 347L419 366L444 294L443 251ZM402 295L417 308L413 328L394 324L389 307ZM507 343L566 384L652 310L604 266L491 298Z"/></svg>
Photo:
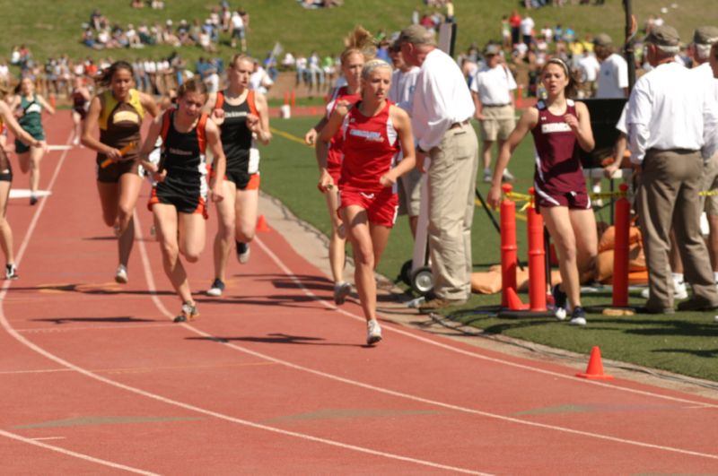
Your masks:
<svg viewBox="0 0 718 476"><path fill-rule="evenodd" d="M528 109L504 143L494 170L488 203L496 206L501 199L503 169L512 151L531 131L536 144L536 189L538 209L546 221L548 233L556 243L561 272L561 288L554 289L556 307L565 307L566 297L573 308L571 324L585 325L581 307L583 273L591 273L596 258L598 238L591 200L586 195L578 148L591 151L594 146L591 118L582 102L566 98L573 91L573 79L561 59L547 62L541 71L547 99Z"/></svg>

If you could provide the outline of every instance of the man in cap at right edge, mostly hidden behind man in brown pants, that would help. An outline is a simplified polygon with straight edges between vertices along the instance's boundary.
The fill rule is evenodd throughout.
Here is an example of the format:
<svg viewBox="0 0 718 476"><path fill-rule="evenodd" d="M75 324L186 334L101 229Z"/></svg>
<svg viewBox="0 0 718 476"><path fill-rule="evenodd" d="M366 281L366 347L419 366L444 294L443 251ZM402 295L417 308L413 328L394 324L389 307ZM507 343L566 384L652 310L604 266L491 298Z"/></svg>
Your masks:
<svg viewBox="0 0 718 476"><path fill-rule="evenodd" d="M718 80L714 78L709 58L711 47L718 43L718 27L704 26L696 28L693 34L691 50L693 52L693 71L707 83L706 88L714 91L714 100L718 101ZM718 190L718 153L705 164L703 190ZM705 215L708 217L708 251L711 255L714 281L718 282L718 195L705 197Z"/></svg>

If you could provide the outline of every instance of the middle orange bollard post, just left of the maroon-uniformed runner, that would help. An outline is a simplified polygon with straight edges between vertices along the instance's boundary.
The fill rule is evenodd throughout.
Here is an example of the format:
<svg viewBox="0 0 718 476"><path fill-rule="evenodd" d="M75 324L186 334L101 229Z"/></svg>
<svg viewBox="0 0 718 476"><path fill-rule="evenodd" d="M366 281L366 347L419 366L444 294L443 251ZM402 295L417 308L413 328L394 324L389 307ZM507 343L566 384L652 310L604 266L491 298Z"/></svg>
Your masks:
<svg viewBox="0 0 718 476"><path fill-rule="evenodd" d="M544 219L537 212L536 190L530 187L531 206L526 213L529 235L529 302L532 312L544 312L546 307L546 250L544 249Z"/></svg>

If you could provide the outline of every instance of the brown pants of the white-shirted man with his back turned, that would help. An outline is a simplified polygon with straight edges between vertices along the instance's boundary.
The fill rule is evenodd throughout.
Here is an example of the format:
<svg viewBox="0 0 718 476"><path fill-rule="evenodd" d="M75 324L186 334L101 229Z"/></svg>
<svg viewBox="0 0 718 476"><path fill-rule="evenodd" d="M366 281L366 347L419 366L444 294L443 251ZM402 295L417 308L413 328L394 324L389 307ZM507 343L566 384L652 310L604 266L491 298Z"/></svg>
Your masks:
<svg viewBox="0 0 718 476"><path fill-rule="evenodd" d="M651 298L646 307L661 311L673 307L669 249L671 224L683 261L684 276L694 296L718 301L708 251L700 232L703 159L698 151L646 153L638 190L638 212L643 227Z"/></svg>

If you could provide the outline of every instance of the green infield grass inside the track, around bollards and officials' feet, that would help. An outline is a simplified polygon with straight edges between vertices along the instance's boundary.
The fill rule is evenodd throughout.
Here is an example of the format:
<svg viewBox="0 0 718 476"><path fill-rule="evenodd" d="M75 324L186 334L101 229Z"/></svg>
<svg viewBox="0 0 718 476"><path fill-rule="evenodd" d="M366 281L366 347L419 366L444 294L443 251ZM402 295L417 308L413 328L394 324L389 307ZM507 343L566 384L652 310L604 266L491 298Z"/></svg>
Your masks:
<svg viewBox="0 0 718 476"><path fill-rule="evenodd" d="M272 126L302 137L315 122L316 118L276 119ZM516 190L522 193L530 186L532 157L532 142L527 137L514 153L510 164L517 177ZM302 220L328 233L328 212L323 197L317 192L317 180L316 160L310 147L275 134L272 143L262 150L263 190L281 199ZM480 182L481 177L478 180L479 190L486 195L486 184ZM608 221L608 212L601 213L602 218ZM601 215L598 218L601 219ZM525 222L517 223L519 256L525 259ZM498 234L486 212L478 207L474 214L472 240L476 271L499 263ZM396 278L401 265L411 258L412 246L407 221L399 219L391 232L379 272L390 279ZM521 294L521 299L523 302L529 300L526 294ZM582 299L587 306L609 304L611 301L609 292L584 294ZM718 381L718 367L714 365L714 358L718 356L718 324L714 324L713 313L618 317L591 314L585 328L576 328L553 318L500 319L482 311L482 308L499 305L500 300L498 294L475 294L466 306L446 314L456 321L484 329L486 333L503 334L585 354L598 345L605 359ZM637 291L632 292L631 304L643 304Z"/></svg>

